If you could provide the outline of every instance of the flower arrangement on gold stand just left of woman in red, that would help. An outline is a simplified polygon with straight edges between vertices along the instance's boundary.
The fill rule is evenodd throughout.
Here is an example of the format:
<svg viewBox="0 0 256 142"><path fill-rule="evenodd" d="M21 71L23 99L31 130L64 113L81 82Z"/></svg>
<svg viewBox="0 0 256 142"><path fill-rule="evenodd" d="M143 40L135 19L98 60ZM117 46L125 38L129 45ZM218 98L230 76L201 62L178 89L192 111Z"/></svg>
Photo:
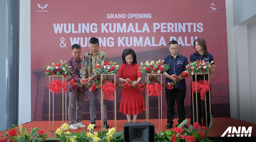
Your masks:
<svg viewBox="0 0 256 142"><path fill-rule="evenodd" d="M118 62L107 62L107 61L101 61L99 64L96 65L96 67L93 69L93 71L97 72L97 75L100 74L108 74L113 75L118 73L119 70L119 61Z"/></svg>

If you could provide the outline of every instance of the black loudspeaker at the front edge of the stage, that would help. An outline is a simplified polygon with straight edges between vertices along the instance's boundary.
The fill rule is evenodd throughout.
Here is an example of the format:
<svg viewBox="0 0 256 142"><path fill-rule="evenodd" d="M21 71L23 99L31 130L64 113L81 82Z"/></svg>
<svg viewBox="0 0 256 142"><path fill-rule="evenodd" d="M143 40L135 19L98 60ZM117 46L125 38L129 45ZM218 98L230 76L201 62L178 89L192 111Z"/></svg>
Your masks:
<svg viewBox="0 0 256 142"><path fill-rule="evenodd" d="M124 142L155 142L155 125L150 122L128 122L123 125Z"/></svg>

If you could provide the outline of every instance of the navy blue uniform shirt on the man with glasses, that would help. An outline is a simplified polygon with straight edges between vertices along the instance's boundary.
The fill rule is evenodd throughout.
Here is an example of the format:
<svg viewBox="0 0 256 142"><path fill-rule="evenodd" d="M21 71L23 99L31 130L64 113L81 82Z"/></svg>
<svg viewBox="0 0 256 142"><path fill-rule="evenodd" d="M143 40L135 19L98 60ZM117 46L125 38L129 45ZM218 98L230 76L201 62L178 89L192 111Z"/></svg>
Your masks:
<svg viewBox="0 0 256 142"><path fill-rule="evenodd" d="M169 65L169 69L166 71L168 75L181 75L181 73L186 69L186 65L188 65L188 59L185 56L182 56L180 54L177 55L177 57L174 59L174 57L170 54L169 56L165 57L164 59L164 64ZM173 80L166 78L165 83L167 84L168 82L173 82ZM180 80L177 85L174 85L173 88L178 88L181 90L186 90L186 82L185 79ZM167 89L167 88L165 88Z"/></svg>

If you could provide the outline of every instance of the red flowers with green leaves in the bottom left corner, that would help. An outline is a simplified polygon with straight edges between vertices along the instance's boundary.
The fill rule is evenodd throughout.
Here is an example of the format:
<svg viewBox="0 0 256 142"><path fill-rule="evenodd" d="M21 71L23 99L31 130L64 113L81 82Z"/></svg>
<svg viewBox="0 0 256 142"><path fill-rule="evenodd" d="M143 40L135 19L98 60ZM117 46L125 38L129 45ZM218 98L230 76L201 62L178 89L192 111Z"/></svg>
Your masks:
<svg viewBox="0 0 256 142"><path fill-rule="evenodd" d="M31 128L32 131L29 134L29 131L27 128L22 128L22 123L19 124L19 127L17 128L15 125L13 125L11 128L7 130L6 133L4 133L2 137L6 137L5 139L2 139L1 142L44 142L47 138L47 134L43 134L43 131L39 128Z"/></svg>

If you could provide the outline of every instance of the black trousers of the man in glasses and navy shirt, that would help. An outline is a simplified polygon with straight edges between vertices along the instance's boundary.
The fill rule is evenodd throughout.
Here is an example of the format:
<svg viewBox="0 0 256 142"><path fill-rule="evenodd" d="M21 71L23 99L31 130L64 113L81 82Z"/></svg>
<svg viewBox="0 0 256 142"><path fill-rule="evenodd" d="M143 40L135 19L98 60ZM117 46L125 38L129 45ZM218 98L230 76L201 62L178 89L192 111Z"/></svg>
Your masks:
<svg viewBox="0 0 256 142"><path fill-rule="evenodd" d="M178 112L178 123L180 124L185 120L185 109L184 109L184 99L186 96L186 90L181 90L178 88L172 90L166 90L166 101L167 101L167 123L173 124L174 119L174 105L175 100L177 104Z"/></svg>

